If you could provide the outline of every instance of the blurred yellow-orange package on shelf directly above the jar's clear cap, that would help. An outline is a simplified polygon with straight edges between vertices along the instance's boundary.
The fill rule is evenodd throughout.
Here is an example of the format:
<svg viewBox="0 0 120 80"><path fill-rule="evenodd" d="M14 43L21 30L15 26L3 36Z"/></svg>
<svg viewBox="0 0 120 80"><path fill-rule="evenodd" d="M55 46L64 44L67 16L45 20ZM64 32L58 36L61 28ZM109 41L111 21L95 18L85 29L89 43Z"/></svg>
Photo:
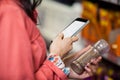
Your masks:
<svg viewBox="0 0 120 80"><path fill-rule="evenodd" d="M105 9L100 9L100 28L101 36L108 41L108 36L111 32L112 22L110 12Z"/></svg>

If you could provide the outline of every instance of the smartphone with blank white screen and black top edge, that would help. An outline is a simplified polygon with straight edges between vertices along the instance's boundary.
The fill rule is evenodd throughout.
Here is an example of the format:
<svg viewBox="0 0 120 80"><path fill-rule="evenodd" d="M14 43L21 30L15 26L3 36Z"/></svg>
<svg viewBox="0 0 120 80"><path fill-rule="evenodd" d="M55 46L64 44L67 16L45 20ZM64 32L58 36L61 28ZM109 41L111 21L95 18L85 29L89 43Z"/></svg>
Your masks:
<svg viewBox="0 0 120 80"><path fill-rule="evenodd" d="M76 18L71 24L69 24L62 33L64 38L72 37L78 34L87 24L89 20L83 18Z"/></svg>

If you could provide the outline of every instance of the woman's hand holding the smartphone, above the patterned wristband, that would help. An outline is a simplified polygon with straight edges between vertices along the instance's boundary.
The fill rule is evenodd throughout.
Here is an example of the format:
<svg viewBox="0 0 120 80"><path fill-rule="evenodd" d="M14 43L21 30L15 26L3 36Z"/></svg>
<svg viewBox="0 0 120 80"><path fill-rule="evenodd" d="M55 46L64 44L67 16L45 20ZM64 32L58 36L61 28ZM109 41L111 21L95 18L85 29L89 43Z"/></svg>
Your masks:
<svg viewBox="0 0 120 80"><path fill-rule="evenodd" d="M50 45L50 54L58 54L61 58L72 49L72 43L77 41L78 37L64 38L64 35L59 34Z"/></svg>

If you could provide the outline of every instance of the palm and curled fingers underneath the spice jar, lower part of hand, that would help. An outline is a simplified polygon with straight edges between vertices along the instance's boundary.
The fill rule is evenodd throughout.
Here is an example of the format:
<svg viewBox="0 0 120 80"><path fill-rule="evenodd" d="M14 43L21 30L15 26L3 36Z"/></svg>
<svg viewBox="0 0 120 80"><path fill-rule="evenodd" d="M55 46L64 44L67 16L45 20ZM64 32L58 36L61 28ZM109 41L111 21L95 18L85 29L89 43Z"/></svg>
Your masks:
<svg viewBox="0 0 120 80"><path fill-rule="evenodd" d="M69 74L69 78L72 79L85 79L87 77L93 76L97 70L98 63L101 61L102 57L98 57L96 59L92 59L90 63L88 63L84 69L85 71L82 74L75 73L72 69Z"/></svg>

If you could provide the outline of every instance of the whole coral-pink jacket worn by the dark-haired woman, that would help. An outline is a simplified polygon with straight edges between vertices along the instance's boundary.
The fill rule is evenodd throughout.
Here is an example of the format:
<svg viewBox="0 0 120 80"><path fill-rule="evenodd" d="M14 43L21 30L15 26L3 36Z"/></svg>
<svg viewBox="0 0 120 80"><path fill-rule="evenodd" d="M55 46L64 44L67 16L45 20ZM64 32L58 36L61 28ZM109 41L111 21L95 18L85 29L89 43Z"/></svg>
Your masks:
<svg viewBox="0 0 120 80"><path fill-rule="evenodd" d="M66 80L46 60L46 46L33 21L14 0L0 0L0 80Z"/></svg>

